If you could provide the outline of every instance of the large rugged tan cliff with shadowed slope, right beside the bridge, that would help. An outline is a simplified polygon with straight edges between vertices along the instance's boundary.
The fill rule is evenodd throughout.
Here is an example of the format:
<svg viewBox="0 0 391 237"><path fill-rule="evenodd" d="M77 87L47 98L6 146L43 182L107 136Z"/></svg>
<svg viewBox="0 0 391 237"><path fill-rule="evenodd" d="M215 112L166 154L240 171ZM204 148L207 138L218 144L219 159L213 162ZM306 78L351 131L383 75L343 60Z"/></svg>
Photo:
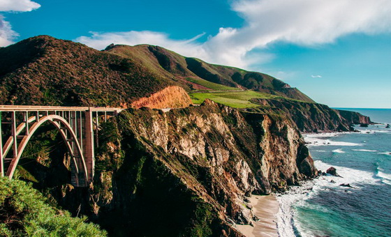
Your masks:
<svg viewBox="0 0 391 237"><path fill-rule="evenodd" d="M90 190L93 216L109 231L154 236L152 221L168 236L239 236L230 223L251 223L251 193L316 175L299 131L278 116L207 100L166 113L128 109L114 122L119 143L97 157Z"/></svg>

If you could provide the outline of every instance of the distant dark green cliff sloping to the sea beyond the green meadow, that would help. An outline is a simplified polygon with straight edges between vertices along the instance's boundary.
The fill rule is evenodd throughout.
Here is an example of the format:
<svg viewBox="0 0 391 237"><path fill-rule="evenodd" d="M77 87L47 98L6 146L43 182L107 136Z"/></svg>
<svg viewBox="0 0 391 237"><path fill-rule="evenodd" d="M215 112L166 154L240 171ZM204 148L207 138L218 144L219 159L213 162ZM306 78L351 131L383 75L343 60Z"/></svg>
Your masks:
<svg viewBox="0 0 391 237"><path fill-rule="evenodd" d="M356 112L331 109L327 105L294 100L253 99L260 105L250 111L280 114L292 119L302 132L351 131L353 123L371 123L367 116Z"/></svg>

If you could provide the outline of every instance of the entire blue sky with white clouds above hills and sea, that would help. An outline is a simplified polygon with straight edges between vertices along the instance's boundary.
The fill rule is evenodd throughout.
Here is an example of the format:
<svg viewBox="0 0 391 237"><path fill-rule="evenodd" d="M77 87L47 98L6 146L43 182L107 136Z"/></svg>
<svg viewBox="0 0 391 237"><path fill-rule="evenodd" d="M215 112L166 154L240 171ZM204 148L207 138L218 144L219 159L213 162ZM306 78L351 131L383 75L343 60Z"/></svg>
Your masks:
<svg viewBox="0 0 391 237"><path fill-rule="evenodd" d="M330 107L391 108L390 0L0 0L0 47L38 35L159 45Z"/></svg>

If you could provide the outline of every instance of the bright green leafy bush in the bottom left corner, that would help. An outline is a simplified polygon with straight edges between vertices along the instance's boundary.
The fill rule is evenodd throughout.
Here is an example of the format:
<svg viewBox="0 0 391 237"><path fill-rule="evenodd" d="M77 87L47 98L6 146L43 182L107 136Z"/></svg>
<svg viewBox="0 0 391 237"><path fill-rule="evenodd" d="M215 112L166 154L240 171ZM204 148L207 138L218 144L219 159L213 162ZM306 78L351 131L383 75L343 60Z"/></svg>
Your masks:
<svg viewBox="0 0 391 237"><path fill-rule="evenodd" d="M86 219L52 208L23 181L0 178L0 236L106 236Z"/></svg>

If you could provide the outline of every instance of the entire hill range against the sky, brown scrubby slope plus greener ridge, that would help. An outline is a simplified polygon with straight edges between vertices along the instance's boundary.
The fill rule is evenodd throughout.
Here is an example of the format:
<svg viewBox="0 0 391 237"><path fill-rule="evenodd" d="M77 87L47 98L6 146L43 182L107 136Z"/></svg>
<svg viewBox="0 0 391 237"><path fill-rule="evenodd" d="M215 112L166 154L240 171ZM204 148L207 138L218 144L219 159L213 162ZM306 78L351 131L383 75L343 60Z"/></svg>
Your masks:
<svg viewBox="0 0 391 237"><path fill-rule="evenodd" d="M188 93L251 89L313 102L269 75L212 65L152 45L110 45L101 52L36 36L0 48L3 105L128 107L167 86L181 86Z"/></svg>

